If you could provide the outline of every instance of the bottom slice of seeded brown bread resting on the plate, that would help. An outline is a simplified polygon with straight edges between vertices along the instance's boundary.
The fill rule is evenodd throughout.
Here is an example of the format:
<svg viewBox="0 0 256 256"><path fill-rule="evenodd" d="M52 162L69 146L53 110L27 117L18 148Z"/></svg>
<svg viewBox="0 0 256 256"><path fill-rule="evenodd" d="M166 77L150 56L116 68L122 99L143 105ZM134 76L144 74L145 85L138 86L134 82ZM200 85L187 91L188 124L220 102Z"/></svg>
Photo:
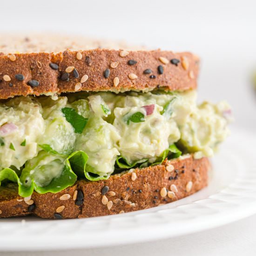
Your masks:
<svg viewBox="0 0 256 256"><path fill-rule="evenodd" d="M194 159L189 155L112 175L108 180L79 180L56 194L34 192L31 198L20 197L17 186L10 183L0 187L0 217L84 218L147 209L204 188L209 168L208 158Z"/></svg>

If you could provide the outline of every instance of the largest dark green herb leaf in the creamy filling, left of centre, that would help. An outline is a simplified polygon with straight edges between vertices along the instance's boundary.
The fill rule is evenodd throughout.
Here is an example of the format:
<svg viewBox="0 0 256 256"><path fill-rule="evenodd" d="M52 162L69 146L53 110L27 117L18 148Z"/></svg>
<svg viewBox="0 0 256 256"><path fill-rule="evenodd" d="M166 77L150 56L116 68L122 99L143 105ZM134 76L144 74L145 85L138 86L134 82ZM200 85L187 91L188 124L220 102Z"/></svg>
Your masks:
<svg viewBox="0 0 256 256"><path fill-rule="evenodd" d="M74 108L62 108L61 111L66 120L74 127L74 132L81 134L88 122L88 118L79 115Z"/></svg>

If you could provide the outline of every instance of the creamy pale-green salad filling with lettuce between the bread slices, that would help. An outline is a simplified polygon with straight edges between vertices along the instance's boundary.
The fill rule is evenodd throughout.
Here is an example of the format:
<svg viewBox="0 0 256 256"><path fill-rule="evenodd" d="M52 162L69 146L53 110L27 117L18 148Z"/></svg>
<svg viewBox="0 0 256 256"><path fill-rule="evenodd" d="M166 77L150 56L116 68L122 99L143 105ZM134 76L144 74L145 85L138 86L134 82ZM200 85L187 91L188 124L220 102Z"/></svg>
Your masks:
<svg viewBox="0 0 256 256"><path fill-rule="evenodd" d="M212 156L230 112L225 101L197 105L195 90L14 97L0 102L0 182L26 197L166 157Z"/></svg>

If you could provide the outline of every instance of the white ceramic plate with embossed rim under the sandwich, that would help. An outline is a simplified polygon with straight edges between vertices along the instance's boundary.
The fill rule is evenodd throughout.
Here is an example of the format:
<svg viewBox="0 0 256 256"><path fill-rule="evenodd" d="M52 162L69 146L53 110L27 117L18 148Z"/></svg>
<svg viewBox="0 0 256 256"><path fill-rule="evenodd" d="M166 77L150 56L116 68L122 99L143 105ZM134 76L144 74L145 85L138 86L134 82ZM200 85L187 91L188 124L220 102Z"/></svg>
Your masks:
<svg viewBox="0 0 256 256"><path fill-rule="evenodd" d="M209 186L177 202L76 220L0 219L0 250L110 246L181 236L256 213L256 135L234 131L213 159Z"/></svg>

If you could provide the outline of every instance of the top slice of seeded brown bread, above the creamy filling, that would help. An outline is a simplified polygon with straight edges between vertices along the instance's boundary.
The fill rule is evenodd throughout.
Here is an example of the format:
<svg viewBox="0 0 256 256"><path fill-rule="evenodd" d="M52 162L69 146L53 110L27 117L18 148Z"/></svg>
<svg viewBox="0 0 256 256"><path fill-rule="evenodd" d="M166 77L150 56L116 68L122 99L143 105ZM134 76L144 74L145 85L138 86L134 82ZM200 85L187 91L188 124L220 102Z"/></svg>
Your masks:
<svg viewBox="0 0 256 256"><path fill-rule="evenodd" d="M14 39L9 46L1 41L0 99L77 91L196 88L199 60L191 53L123 50L130 47L86 43L85 39L48 40L52 45L42 39L36 43L29 38ZM54 46L60 42L61 46Z"/></svg>

